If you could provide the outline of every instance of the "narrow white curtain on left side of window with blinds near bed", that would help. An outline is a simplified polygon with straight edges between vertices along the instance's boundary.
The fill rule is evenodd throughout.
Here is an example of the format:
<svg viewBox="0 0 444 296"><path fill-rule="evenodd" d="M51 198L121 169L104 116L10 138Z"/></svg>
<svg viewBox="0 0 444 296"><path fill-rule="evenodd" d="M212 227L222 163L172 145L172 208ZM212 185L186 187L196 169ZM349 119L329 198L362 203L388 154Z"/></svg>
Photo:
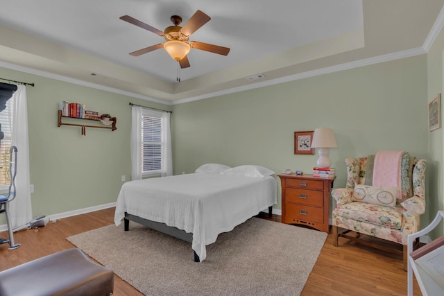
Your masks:
<svg viewBox="0 0 444 296"><path fill-rule="evenodd" d="M131 180L142 179L142 145L140 135L142 134L142 107L131 107Z"/></svg>

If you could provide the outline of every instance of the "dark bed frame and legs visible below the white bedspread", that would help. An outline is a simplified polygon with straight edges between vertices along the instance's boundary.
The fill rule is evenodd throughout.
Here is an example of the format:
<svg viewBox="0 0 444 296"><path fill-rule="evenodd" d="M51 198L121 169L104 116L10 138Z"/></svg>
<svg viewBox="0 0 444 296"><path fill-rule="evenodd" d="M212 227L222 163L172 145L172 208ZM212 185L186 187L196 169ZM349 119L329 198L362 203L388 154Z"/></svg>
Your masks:
<svg viewBox="0 0 444 296"><path fill-rule="evenodd" d="M268 216L271 217L271 213L273 211L273 206L268 207ZM174 236L176 238L181 239L182 241L187 241L189 243L193 242L193 234L189 232L185 232L185 230L178 229L176 227L171 227L166 225L165 223L159 223L151 220L146 220L144 218L140 218L128 213L125 213L125 219L124 219L124 225L125 225L125 231L128 232L130 229L130 220L134 221L136 223L139 223L141 225L144 225L145 227L157 230L158 232L162 232L164 234L168 234L169 236ZM194 251L194 262L200 262L199 256L196 254L196 251Z"/></svg>

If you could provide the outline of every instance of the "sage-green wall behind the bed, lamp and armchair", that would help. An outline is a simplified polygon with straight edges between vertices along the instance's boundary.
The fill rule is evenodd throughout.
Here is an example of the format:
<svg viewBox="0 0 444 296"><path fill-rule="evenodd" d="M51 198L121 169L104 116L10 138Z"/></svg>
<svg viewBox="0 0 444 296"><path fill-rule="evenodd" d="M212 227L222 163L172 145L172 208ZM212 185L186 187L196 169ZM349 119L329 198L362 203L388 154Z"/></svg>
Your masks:
<svg viewBox="0 0 444 296"><path fill-rule="evenodd" d="M407 150L427 159L427 55L173 105L173 112L175 173L207 162L311 173L318 151L294 155L293 134L326 126L339 146L330 149L337 188L345 185L346 157Z"/></svg>

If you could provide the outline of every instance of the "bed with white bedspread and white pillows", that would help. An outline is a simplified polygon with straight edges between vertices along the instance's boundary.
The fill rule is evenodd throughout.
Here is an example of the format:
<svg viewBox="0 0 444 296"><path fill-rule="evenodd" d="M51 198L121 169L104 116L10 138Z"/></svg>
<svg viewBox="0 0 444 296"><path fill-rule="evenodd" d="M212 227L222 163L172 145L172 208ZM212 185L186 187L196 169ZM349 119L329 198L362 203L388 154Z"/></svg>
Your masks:
<svg viewBox="0 0 444 296"><path fill-rule="evenodd" d="M205 164L196 173L126 182L117 198L114 223L129 220L191 242L194 261L206 245L277 202L278 182L262 166Z"/></svg>

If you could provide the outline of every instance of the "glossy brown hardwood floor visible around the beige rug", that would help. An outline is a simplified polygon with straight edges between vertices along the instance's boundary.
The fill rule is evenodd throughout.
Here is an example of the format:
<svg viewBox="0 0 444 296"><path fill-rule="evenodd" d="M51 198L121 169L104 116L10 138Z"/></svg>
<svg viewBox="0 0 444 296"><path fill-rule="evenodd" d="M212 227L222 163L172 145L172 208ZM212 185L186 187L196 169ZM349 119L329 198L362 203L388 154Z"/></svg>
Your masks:
<svg viewBox="0 0 444 296"><path fill-rule="evenodd" d="M267 214L260 214L258 217L280 223L280 216L268 218ZM0 245L0 271L74 247L66 240L68 236L110 225L113 221L114 208L110 208L17 232L14 238L20 247L8 250L8 244ZM7 236L7 232L0 232L1 238ZM413 281L414 295L421 295L416 279ZM114 295L142 293L114 276ZM329 234L302 295L407 295L407 272L402 269L401 256L386 254L345 238L339 238L339 247L334 247Z"/></svg>

